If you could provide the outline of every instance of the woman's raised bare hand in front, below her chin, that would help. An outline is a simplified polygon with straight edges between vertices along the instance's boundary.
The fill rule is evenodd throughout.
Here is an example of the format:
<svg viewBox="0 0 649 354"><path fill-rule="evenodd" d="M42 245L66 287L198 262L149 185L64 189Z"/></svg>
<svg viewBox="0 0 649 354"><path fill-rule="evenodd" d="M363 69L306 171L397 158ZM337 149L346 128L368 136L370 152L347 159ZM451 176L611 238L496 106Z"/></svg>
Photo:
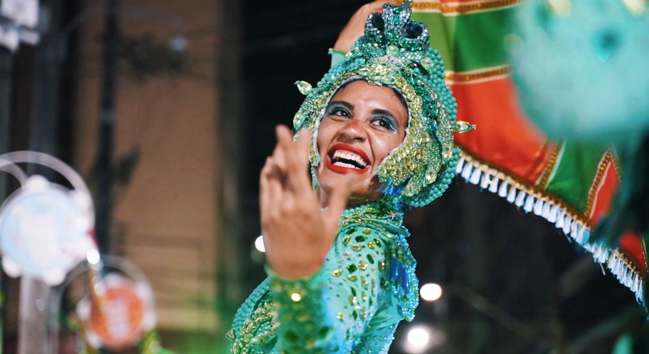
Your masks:
<svg viewBox="0 0 649 354"><path fill-rule="evenodd" d="M307 171L311 136L302 130L293 143L286 126L276 128L277 145L260 174L259 204L263 244L278 276L296 279L315 274L336 237L348 187L332 191L326 211Z"/></svg>

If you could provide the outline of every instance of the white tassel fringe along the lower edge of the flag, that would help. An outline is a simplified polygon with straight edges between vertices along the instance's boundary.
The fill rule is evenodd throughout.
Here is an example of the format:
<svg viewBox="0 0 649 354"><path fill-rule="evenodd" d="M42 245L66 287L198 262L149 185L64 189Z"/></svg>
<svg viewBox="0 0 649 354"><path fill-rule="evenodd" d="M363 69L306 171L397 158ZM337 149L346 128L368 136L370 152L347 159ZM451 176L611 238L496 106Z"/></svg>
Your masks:
<svg viewBox="0 0 649 354"><path fill-rule="evenodd" d="M535 197L531 191L508 182L508 177L489 166L475 161L465 154L460 155L456 174L459 174L467 182L480 184L480 189L486 189L491 193L498 193L498 196L506 198L511 204L522 207L526 212L533 212L549 222L556 228L563 230L569 239L576 241L583 248L593 254L596 263L606 265L617 279L631 289L639 303L644 303L643 277L631 268L618 252L608 250L604 247L588 243L591 233L590 228L583 225L579 220L574 220L563 207L557 206L552 200Z"/></svg>

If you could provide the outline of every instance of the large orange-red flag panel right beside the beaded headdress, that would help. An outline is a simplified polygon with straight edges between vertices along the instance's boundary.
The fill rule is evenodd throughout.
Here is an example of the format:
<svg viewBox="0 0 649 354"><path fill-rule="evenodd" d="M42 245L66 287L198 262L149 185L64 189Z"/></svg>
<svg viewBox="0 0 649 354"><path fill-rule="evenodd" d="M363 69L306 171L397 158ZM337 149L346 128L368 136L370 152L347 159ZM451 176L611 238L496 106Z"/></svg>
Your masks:
<svg viewBox="0 0 649 354"><path fill-rule="evenodd" d="M550 159L552 145L520 110L511 78L450 88L458 101L458 120L476 125L471 132L455 135L458 145L535 183Z"/></svg>

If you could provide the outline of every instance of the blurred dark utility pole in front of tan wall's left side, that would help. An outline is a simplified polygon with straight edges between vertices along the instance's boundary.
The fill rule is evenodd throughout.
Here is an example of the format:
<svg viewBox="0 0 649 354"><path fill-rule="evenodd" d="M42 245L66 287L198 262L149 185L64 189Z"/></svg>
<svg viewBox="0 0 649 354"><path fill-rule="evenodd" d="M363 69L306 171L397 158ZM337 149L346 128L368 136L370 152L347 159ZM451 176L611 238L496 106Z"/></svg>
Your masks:
<svg viewBox="0 0 649 354"><path fill-rule="evenodd" d="M99 111L99 146L97 149L97 222L95 231L101 253L110 251L110 224L113 189L113 135L117 87L117 51L119 44L119 0L106 3L104 22L103 78Z"/></svg>

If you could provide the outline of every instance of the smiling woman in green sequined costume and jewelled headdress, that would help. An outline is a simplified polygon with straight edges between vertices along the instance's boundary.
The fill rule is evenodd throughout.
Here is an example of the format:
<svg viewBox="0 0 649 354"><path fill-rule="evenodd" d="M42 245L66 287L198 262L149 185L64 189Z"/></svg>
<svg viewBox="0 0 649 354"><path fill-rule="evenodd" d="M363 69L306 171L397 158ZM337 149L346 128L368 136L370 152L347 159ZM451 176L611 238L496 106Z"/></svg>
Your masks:
<svg viewBox="0 0 649 354"><path fill-rule="evenodd" d="M445 191L458 161L452 133L467 124L456 124L443 63L428 29L410 21L410 1L367 17L385 2L350 20L341 36L358 37L359 16L365 35L317 87L299 82L299 133L276 129L260 174L269 277L234 319L234 353L387 353L413 318L403 207Z"/></svg>

